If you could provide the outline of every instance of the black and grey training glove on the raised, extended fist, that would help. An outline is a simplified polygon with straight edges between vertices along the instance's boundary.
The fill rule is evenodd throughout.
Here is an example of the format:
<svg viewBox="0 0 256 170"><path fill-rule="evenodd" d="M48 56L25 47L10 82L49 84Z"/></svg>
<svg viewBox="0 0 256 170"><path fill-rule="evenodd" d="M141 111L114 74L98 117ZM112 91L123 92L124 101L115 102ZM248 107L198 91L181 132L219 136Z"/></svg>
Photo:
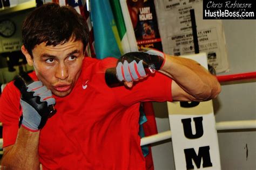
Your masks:
<svg viewBox="0 0 256 170"><path fill-rule="evenodd" d="M134 81L147 74L161 69L165 62L165 54L154 50L144 49L143 52L124 54L117 62L116 68L109 68L105 73L105 81L109 87L121 86L123 81Z"/></svg>

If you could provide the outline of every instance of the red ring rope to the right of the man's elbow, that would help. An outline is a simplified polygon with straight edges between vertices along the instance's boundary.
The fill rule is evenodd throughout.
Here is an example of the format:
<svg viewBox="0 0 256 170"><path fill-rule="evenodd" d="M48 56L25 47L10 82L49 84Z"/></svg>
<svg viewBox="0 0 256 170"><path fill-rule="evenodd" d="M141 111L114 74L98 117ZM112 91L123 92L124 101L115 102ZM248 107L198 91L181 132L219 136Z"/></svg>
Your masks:
<svg viewBox="0 0 256 170"><path fill-rule="evenodd" d="M245 79L256 79L256 72L221 75L221 76L217 76L217 79L219 82L245 80Z"/></svg>

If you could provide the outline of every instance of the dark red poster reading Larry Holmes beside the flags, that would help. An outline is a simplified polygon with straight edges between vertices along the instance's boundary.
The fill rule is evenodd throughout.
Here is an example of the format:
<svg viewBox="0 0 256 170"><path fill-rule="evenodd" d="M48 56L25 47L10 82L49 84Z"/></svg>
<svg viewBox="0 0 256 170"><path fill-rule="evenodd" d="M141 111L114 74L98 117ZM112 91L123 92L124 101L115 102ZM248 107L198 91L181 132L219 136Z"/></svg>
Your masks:
<svg viewBox="0 0 256 170"><path fill-rule="evenodd" d="M156 48L163 51L153 0L126 1L139 50Z"/></svg>

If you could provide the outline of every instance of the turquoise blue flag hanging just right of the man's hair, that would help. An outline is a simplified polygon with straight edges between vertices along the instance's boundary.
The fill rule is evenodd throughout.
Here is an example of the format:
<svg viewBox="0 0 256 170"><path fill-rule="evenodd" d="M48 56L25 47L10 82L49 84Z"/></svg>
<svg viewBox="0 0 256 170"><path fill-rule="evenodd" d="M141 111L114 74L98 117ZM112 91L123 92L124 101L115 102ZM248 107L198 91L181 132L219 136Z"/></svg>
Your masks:
<svg viewBox="0 0 256 170"><path fill-rule="evenodd" d="M119 58L123 49L109 1L94 0L90 3L97 58Z"/></svg>

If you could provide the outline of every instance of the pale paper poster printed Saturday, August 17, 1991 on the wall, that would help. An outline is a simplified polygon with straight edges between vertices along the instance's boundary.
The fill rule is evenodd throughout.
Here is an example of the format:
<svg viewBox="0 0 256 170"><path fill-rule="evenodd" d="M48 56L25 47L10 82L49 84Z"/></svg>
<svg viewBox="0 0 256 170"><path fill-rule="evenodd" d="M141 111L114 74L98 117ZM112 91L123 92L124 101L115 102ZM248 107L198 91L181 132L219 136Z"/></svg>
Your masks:
<svg viewBox="0 0 256 170"><path fill-rule="evenodd" d="M172 55L194 54L190 9L194 9L199 51L217 73L228 71L227 48L220 19L203 19L203 0L154 1L163 51Z"/></svg>

